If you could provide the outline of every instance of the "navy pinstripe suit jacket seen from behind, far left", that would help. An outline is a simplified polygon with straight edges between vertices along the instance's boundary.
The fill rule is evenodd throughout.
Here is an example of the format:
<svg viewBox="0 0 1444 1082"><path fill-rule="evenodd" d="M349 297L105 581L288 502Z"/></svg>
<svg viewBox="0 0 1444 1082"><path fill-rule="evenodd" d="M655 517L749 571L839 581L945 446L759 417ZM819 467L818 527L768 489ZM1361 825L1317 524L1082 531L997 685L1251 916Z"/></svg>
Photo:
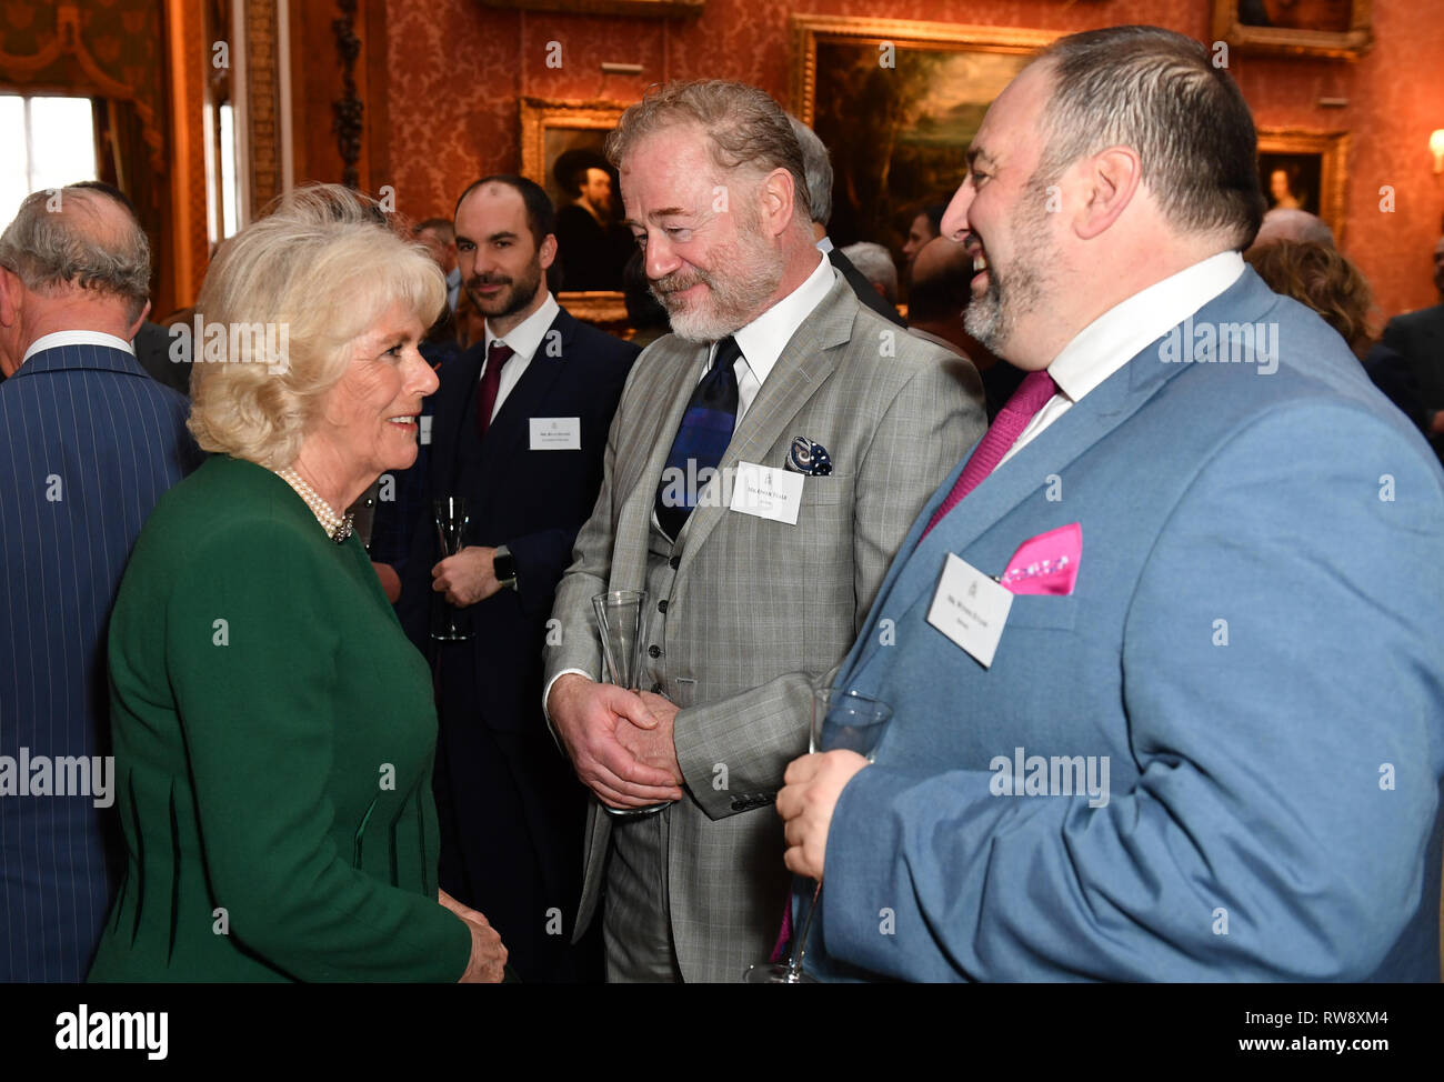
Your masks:
<svg viewBox="0 0 1444 1082"><path fill-rule="evenodd" d="M36 763L110 754L105 627L140 527L196 462L188 409L105 345L43 350L0 384L0 981L84 979L110 907L114 813L20 793Z"/></svg>

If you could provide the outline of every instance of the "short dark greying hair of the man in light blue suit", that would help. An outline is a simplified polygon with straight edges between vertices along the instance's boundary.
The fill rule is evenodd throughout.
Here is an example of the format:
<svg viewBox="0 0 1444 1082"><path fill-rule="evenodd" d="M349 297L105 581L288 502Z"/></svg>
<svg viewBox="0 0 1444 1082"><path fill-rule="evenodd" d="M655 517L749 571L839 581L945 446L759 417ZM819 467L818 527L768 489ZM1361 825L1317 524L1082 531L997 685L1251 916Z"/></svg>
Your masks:
<svg viewBox="0 0 1444 1082"><path fill-rule="evenodd" d="M1157 26L1112 26L1061 38L1035 62L1053 75L1044 185L1080 157L1129 146L1175 228L1249 246L1264 217L1258 136L1238 84L1203 45Z"/></svg>

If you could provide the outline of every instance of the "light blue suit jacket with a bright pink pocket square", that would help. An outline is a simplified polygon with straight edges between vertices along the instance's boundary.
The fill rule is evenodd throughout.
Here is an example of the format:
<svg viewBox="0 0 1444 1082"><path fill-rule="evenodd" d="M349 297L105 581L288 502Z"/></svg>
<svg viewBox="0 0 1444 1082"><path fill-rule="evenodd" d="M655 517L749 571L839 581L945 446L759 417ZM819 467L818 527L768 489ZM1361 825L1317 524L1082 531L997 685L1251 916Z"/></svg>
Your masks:
<svg viewBox="0 0 1444 1082"><path fill-rule="evenodd" d="M894 721L814 974L1438 979L1444 474L1252 270L1193 319L1276 324L1276 371L1154 344L902 543L838 679ZM1076 591L1015 597L991 669L927 624L946 553L1074 521ZM1108 803L995 796L1017 748L1106 757Z"/></svg>

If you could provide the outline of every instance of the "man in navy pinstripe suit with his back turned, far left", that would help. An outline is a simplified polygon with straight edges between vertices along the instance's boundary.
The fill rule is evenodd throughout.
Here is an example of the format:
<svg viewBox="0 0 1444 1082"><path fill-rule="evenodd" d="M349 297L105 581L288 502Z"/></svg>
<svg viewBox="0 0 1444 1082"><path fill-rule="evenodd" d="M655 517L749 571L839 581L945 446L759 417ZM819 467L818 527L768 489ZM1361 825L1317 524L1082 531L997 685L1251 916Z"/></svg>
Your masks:
<svg viewBox="0 0 1444 1082"><path fill-rule="evenodd" d="M105 627L198 456L130 345L149 292L114 189L36 192L0 235L0 982L84 979L121 871Z"/></svg>

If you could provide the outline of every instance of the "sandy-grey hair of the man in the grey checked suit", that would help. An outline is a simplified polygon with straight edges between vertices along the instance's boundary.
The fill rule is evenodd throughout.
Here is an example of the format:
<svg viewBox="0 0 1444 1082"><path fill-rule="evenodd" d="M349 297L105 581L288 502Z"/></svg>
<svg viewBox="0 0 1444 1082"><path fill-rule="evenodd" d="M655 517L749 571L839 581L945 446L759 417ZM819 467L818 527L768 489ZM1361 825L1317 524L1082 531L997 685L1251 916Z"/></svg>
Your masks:
<svg viewBox="0 0 1444 1082"><path fill-rule="evenodd" d="M708 137L712 160L723 172L747 168L760 175L786 169L793 175L793 220L812 222L812 201L803 150L787 123L787 113L767 91L745 82L703 79L700 82L653 84L641 101L628 105L606 136L606 160L621 169L622 160L647 136L670 127L690 126Z"/></svg>

